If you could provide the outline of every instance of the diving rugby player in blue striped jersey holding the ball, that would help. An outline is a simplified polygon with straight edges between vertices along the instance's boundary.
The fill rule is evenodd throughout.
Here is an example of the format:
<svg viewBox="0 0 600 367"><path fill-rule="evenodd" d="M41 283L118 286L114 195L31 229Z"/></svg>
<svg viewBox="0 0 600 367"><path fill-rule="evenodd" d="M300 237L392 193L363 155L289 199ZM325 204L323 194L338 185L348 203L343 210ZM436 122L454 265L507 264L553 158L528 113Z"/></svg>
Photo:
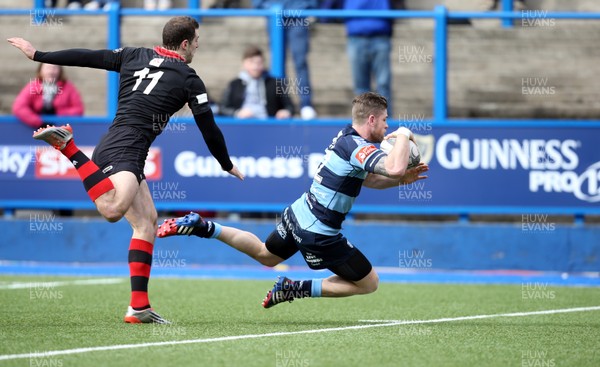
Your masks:
<svg viewBox="0 0 600 367"><path fill-rule="evenodd" d="M304 297L346 297L377 290L379 277L369 260L341 233L342 222L363 186L386 189L425 179L420 163L408 169L409 129L385 136L387 101L363 93L352 101L352 124L340 131L326 149L310 189L285 208L281 222L263 243L254 234L203 220L198 214L172 218L158 228L158 237L196 235L216 238L266 266L275 266L300 251L311 269L329 269L325 279L293 281L280 277L262 305L272 307ZM384 153L374 144L396 137Z"/></svg>

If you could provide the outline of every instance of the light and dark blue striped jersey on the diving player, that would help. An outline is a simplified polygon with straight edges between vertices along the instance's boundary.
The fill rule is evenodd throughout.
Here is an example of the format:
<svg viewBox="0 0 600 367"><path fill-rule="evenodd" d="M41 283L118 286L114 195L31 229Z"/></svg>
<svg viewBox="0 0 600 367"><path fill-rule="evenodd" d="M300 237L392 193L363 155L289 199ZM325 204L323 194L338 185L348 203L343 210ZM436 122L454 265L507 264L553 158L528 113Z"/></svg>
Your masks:
<svg viewBox="0 0 600 367"><path fill-rule="evenodd" d="M363 181L385 155L346 126L325 150L310 190L291 208L300 226L311 232L336 235L360 193Z"/></svg>

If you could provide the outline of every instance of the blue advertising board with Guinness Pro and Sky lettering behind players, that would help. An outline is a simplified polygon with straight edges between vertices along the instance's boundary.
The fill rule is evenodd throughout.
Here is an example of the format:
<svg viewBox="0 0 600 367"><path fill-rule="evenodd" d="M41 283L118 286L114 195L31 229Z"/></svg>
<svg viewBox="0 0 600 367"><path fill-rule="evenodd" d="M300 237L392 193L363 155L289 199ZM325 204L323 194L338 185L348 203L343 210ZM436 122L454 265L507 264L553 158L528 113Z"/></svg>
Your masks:
<svg viewBox="0 0 600 367"><path fill-rule="evenodd" d="M564 206L585 211L600 202L596 128L418 125L412 128L422 161L430 166L429 179L388 190L364 188L355 206ZM74 127L86 154L91 155L106 128L95 123ZM169 125L146 161L155 202L289 204L308 189L341 126L240 123L221 128L246 180L221 170L193 124ZM89 200L70 162L13 124L0 124L0 188L5 205Z"/></svg>

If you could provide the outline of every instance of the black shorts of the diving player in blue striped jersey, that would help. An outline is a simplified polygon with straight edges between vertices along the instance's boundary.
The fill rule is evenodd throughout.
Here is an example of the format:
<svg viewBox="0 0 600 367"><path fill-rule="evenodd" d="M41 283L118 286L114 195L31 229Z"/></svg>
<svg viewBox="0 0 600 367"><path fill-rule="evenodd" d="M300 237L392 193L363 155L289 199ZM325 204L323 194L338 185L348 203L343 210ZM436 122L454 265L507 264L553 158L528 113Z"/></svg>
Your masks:
<svg viewBox="0 0 600 367"><path fill-rule="evenodd" d="M288 207L266 241L267 250L282 259L300 251L311 269L329 269L340 277L361 280L373 268L369 260L341 233L326 236L304 230Z"/></svg>

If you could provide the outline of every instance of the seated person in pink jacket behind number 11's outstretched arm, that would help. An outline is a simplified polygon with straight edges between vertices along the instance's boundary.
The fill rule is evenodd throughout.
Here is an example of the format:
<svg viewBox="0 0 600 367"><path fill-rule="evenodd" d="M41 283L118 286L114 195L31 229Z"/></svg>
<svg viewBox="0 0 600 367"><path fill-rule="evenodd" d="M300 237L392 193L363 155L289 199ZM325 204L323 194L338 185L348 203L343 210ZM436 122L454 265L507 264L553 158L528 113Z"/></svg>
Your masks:
<svg viewBox="0 0 600 367"><path fill-rule="evenodd" d="M40 63L37 77L15 99L13 114L37 129L48 125L41 115L83 115L83 103L75 85L65 77L62 66Z"/></svg>

